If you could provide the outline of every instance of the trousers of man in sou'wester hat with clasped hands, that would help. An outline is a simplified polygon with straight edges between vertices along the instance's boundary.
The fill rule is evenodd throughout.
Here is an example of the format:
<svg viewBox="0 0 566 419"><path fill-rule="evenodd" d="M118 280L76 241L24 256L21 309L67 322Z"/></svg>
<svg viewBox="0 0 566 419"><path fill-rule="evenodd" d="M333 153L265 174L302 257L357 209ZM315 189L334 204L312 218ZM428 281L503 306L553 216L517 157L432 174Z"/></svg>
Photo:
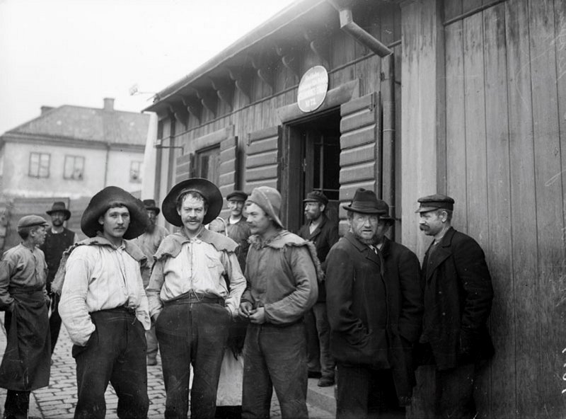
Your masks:
<svg viewBox="0 0 566 419"><path fill-rule="evenodd" d="M250 324L243 347L242 418L269 418L273 389L283 419L308 418L304 323Z"/></svg>

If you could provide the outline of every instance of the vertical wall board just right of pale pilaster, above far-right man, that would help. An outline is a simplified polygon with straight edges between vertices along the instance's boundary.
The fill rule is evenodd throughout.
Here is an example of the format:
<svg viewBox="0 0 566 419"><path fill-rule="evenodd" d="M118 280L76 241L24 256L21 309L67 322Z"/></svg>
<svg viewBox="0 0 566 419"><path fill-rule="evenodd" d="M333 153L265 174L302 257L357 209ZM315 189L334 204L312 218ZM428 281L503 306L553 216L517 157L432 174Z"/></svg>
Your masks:
<svg viewBox="0 0 566 419"><path fill-rule="evenodd" d="M452 23L446 33L446 195L454 198L453 224L468 231L466 179L466 106L464 102L463 23Z"/></svg>

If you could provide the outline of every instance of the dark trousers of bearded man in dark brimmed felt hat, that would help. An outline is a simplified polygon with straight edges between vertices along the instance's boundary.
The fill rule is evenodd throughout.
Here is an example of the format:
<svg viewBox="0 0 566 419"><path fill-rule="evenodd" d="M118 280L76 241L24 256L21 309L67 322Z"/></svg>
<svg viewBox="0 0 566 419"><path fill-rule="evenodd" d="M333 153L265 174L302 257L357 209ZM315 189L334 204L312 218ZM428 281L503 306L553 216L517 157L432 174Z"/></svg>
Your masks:
<svg viewBox="0 0 566 419"><path fill-rule="evenodd" d="M405 418L390 369L338 363L337 419Z"/></svg>

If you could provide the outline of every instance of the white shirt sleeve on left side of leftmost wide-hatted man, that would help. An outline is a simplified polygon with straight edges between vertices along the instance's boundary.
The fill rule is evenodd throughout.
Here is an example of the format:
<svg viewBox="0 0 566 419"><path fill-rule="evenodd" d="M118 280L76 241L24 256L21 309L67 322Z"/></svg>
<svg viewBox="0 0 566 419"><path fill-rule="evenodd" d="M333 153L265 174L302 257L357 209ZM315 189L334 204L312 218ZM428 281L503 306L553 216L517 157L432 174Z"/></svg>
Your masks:
<svg viewBox="0 0 566 419"><path fill-rule="evenodd" d="M84 346L88 338L96 329L88 314L86 305L86 294L90 272L88 260L73 258L67 260L65 280L59 302L59 315L63 324L69 332L71 342L75 345Z"/></svg>

